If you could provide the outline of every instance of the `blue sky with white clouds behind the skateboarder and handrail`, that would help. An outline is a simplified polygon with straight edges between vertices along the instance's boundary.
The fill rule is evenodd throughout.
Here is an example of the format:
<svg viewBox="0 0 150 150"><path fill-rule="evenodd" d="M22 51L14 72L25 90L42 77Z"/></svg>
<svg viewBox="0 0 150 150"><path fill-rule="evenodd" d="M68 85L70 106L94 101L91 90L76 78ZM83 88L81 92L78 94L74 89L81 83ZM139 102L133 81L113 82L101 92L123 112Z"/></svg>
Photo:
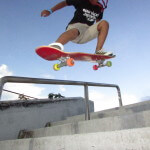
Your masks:
<svg viewBox="0 0 150 150"><path fill-rule="evenodd" d="M74 67L64 67L56 72L52 69L55 62L38 57L35 48L54 42L65 31L65 27L73 17L72 6L65 7L47 18L40 17L43 9L51 8L58 2L60 0L0 1L0 77L14 75L111 83L120 86L124 104L149 98L150 1L109 0L103 19L110 24L104 49L114 52L117 56L112 59L111 68L93 71L92 63L76 62ZM65 45L65 51L94 53L96 42L93 40L82 45L70 42ZM7 88L36 97L47 96L50 92L59 92L66 97L83 96L82 88L76 86L21 85L22 88L17 86L15 88L8 85ZM90 98L95 99L98 109L104 108L98 107L104 106L104 101L106 107L118 105L114 89L90 87L89 91ZM12 98L5 93L2 98L6 97Z"/></svg>

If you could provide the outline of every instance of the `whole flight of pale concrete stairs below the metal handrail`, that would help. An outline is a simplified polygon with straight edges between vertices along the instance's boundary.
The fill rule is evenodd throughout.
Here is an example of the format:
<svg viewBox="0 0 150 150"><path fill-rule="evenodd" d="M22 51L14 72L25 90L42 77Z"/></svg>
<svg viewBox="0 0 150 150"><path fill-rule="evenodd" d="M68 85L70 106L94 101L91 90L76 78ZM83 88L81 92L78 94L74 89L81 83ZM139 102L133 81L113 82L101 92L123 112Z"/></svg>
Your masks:
<svg viewBox="0 0 150 150"><path fill-rule="evenodd" d="M0 150L150 150L150 101L69 117L0 141Z"/></svg>

